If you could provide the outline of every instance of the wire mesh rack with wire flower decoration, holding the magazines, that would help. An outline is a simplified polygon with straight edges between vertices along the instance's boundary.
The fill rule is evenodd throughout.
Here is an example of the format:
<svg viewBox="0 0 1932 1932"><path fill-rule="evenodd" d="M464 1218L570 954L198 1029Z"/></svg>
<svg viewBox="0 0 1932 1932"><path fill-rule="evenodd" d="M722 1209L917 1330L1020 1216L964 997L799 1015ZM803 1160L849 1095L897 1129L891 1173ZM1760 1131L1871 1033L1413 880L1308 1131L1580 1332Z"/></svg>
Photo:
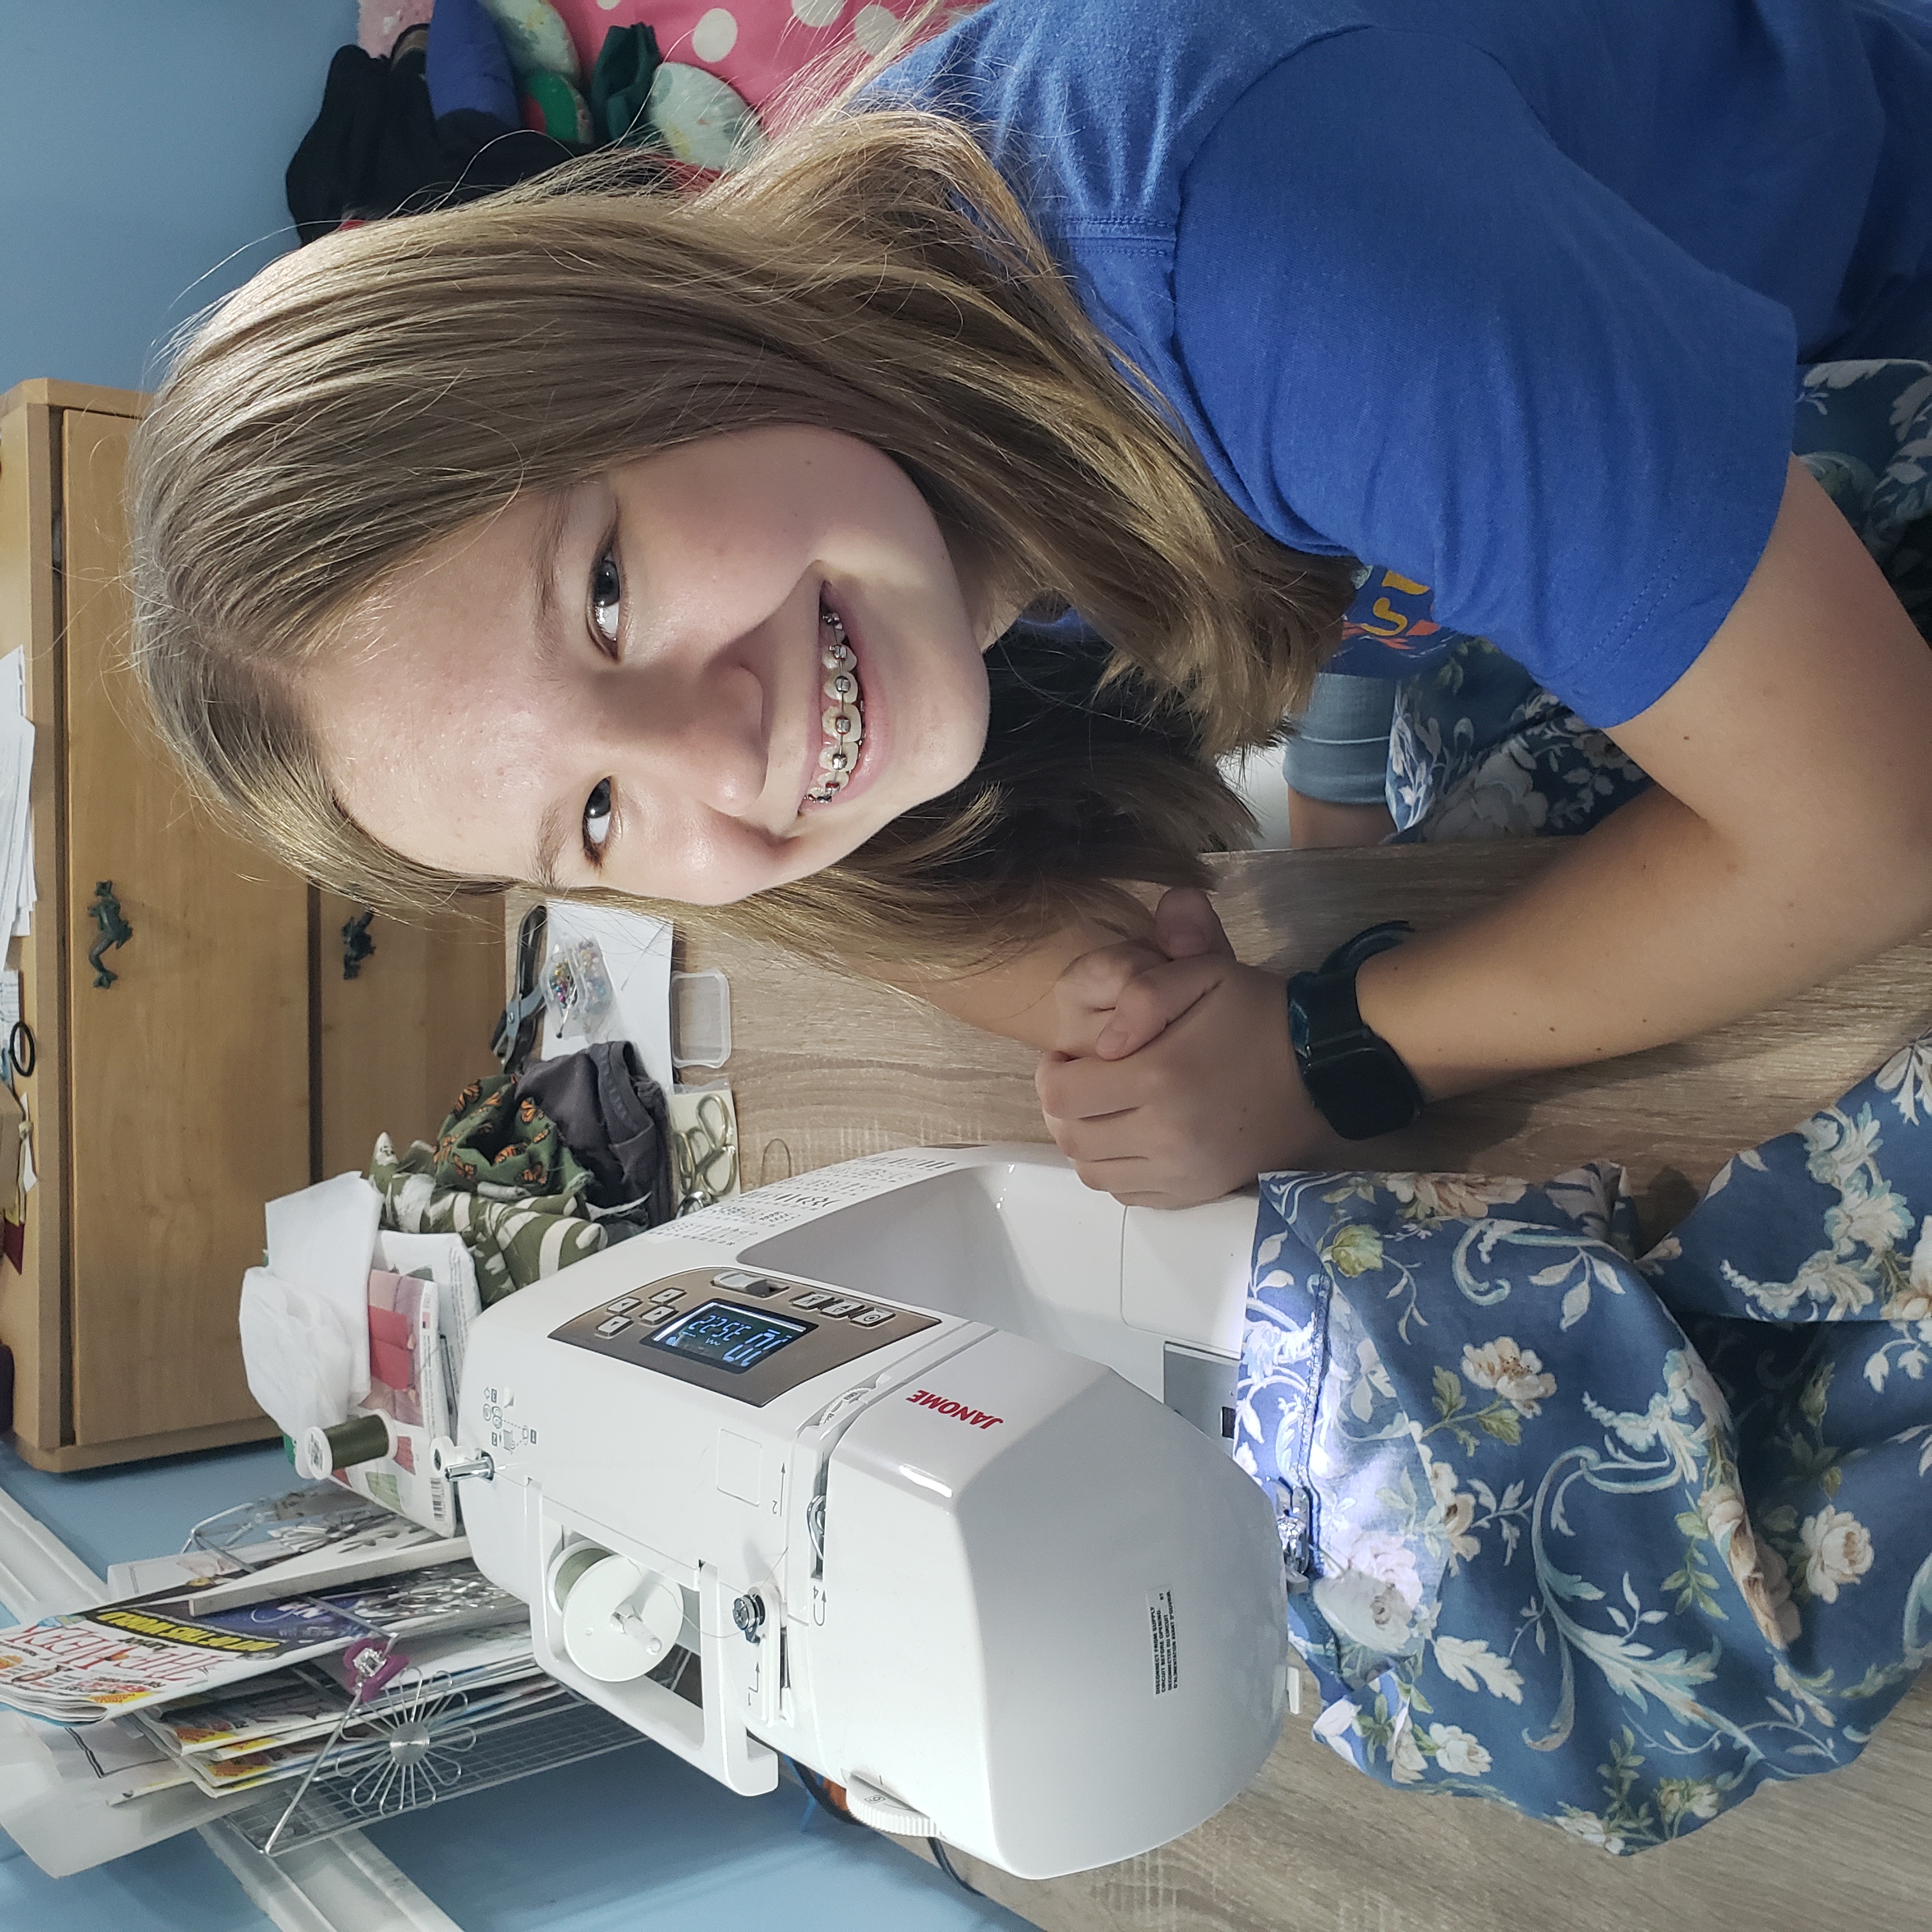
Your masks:
<svg viewBox="0 0 1932 1932"><path fill-rule="evenodd" d="M516 1777L580 1764L611 1750L641 1745L620 1718L564 1690L529 1714L510 1712L464 1723L454 1712L431 1725L398 1725L386 1737L330 1754L309 1781L294 1814L288 1787L269 1787L257 1804L230 1812L228 1822L257 1849L282 1857L338 1832L402 1818L468 1791L489 1791ZM282 1824L284 1816L288 1818ZM280 1833L276 1826L282 1826Z"/></svg>

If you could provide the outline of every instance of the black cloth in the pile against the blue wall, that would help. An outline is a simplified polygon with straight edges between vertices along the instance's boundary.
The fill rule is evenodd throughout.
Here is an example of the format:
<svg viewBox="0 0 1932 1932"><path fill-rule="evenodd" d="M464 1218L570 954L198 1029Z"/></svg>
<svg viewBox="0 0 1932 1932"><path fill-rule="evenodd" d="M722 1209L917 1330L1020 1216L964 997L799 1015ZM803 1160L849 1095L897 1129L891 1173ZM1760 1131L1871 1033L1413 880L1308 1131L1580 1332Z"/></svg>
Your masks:
<svg viewBox="0 0 1932 1932"><path fill-rule="evenodd" d="M303 242L330 234L348 216L475 201L578 153L473 108L439 118L423 75L419 46L392 60L359 46L336 50L323 110L288 164L288 213Z"/></svg>

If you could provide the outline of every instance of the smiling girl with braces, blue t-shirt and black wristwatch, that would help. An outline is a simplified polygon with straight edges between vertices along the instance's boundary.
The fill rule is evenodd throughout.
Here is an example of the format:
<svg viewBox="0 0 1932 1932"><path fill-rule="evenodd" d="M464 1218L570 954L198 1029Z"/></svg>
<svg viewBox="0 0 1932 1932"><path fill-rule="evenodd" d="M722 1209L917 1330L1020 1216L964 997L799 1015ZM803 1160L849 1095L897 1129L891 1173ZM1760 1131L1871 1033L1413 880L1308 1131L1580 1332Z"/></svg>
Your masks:
<svg viewBox="0 0 1932 1932"><path fill-rule="evenodd" d="M137 663L328 887L914 983L1198 1200L1932 922L1932 655L1791 458L1801 363L1926 354L1915 0L991 0L694 199L257 276L139 437ZM1184 891L1213 761L1451 636L1654 786L1289 997Z"/></svg>

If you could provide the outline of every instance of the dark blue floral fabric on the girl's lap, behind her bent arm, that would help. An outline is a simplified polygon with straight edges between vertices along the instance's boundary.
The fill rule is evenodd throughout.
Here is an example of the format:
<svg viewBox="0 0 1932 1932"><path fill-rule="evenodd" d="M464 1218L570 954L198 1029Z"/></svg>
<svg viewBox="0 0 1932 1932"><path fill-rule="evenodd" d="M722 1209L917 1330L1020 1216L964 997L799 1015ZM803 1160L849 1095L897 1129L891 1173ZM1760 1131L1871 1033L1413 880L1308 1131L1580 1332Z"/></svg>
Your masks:
<svg viewBox="0 0 1932 1932"><path fill-rule="evenodd" d="M1932 638L1932 363L1799 369L1791 448ZM1482 638L1455 638L1399 686L1387 765L1395 842L1580 833L1648 782Z"/></svg>

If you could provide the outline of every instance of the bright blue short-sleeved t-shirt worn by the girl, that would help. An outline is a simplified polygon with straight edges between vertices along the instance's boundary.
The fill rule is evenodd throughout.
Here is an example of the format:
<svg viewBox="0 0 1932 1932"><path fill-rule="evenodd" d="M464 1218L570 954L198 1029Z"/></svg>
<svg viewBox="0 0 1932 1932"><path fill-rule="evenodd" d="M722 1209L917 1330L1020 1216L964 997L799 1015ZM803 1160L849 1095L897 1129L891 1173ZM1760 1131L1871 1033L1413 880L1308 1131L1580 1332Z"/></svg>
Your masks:
<svg viewBox="0 0 1932 1932"><path fill-rule="evenodd" d="M1372 566L1335 668L1478 634L1623 723L1764 551L1799 359L1932 354L1924 0L989 0L883 89Z"/></svg>

